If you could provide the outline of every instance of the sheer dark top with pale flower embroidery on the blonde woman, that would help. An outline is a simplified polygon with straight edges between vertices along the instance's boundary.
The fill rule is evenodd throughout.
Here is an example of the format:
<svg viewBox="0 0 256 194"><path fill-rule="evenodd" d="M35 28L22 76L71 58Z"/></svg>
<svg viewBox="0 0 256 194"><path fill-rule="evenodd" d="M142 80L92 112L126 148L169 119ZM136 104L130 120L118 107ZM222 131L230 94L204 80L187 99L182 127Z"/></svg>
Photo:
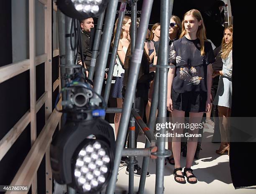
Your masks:
<svg viewBox="0 0 256 194"><path fill-rule="evenodd" d="M215 62L210 42L205 41L205 55L201 56L200 40L182 37L170 46L169 62L176 66L172 88L177 93L207 92L207 65Z"/></svg>

